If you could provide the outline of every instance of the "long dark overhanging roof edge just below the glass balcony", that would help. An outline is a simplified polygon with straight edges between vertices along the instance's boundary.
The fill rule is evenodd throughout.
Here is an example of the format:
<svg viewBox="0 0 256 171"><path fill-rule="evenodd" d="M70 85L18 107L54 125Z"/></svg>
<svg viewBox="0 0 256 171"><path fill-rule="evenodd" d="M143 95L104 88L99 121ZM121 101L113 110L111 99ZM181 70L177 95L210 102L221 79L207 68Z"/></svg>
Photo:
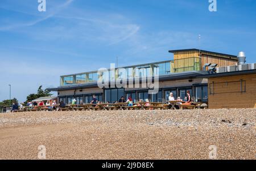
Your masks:
<svg viewBox="0 0 256 171"><path fill-rule="evenodd" d="M207 71L187 71L187 72L172 73L168 75L160 75L159 82L164 82L169 80L192 79L192 78L196 78L197 76L206 75L206 74L208 74ZM135 83L135 80L138 80L138 79L133 79L134 83ZM139 78L140 83L142 82L142 80L144 80L144 78ZM152 78L152 80L154 80L154 77ZM96 87L98 87L97 82L91 82L91 83L84 83L84 84L71 84L68 86L60 86L56 88L47 88L47 90L65 91L65 90L71 90L71 89L96 88Z"/></svg>

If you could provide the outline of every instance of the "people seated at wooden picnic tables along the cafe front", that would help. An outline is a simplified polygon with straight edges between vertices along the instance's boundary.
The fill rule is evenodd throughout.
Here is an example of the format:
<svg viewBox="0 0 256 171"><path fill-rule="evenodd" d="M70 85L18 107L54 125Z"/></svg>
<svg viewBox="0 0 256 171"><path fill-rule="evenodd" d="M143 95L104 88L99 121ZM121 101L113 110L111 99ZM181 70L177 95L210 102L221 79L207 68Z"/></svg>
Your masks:
<svg viewBox="0 0 256 171"><path fill-rule="evenodd" d="M187 96L185 97L186 101L183 101L180 97L177 97L177 99L175 100L174 94L172 92L170 93L168 100L169 100L168 101L169 106L167 106L168 109L179 109L179 105L181 104L191 105L191 95L189 91L187 91ZM93 107L98 107L98 106L101 106L103 103L101 101L98 101L96 96L93 95L93 98L90 104ZM121 99L119 99L118 101L115 101L113 104L110 104L109 101L107 101L104 104L106 107L113 104L123 104L125 106L130 106L130 107L142 106L143 104L142 107L148 107L148 109L153 109L153 108L150 108L150 106L152 106L152 102L150 102L148 99L146 99L145 101L139 100L138 102L135 102L130 96L128 97L127 100L125 100L125 97L122 96ZM76 103L76 99L72 100L71 105L78 105ZM60 103L57 104L56 100L53 100L52 103L49 100L47 100L46 104L44 104L43 101L28 102L26 105L26 109L36 109L36 108L44 107L45 109L48 109L48 110L59 110L61 108L67 108L67 106L70 106L70 105L66 105L63 101L60 101ZM13 111L15 112L15 110L19 110L19 109L23 110L25 106L23 106L22 104L20 104L20 106L13 104L12 108L13 108Z"/></svg>

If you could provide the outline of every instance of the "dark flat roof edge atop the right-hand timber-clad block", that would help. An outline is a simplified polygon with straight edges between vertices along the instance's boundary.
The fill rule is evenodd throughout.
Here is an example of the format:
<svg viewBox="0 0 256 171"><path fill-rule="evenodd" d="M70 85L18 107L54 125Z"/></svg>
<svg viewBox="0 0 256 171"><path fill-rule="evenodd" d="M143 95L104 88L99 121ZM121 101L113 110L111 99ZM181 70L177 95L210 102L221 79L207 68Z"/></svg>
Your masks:
<svg viewBox="0 0 256 171"><path fill-rule="evenodd" d="M255 70L232 71L232 72L221 72L221 73L217 73L217 74L199 75L199 76L197 76L197 78L217 78L217 77L247 75L247 74L256 74L256 69Z"/></svg>

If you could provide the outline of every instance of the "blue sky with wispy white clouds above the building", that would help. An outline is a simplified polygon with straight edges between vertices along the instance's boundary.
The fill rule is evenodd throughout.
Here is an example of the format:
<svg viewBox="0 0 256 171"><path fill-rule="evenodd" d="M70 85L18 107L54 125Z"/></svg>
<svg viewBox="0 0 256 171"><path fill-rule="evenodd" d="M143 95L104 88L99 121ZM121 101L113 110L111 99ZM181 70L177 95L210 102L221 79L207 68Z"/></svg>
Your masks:
<svg viewBox="0 0 256 171"><path fill-rule="evenodd" d="M0 1L0 100L59 86L59 76L172 59L171 49L199 48L256 62L256 1Z"/></svg>

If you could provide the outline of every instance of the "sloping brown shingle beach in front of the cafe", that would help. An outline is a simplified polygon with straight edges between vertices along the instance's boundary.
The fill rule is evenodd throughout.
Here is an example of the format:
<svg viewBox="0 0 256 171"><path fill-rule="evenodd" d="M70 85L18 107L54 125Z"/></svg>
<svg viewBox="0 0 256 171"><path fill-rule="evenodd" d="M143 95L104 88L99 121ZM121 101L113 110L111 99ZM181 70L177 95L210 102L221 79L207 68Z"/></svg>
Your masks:
<svg viewBox="0 0 256 171"><path fill-rule="evenodd" d="M0 159L256 159L256 109L0 114Z"/></svg>

